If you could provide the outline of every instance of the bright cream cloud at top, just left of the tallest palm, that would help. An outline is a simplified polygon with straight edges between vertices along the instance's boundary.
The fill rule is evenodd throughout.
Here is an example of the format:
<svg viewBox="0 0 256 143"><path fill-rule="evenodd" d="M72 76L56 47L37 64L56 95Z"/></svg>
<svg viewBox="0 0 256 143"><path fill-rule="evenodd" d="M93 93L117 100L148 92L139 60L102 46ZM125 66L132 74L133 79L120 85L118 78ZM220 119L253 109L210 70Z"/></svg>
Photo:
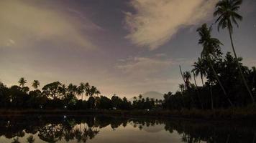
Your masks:
<svg viewBox="0 0 256 143"><path fill-rule="evenodd" d="M136 13L125 13L125 26L129 29L126 37L137 46L157 49L170 40L178 29L198 24L212 16L216 1L132 0L130 4Z"/></svg>

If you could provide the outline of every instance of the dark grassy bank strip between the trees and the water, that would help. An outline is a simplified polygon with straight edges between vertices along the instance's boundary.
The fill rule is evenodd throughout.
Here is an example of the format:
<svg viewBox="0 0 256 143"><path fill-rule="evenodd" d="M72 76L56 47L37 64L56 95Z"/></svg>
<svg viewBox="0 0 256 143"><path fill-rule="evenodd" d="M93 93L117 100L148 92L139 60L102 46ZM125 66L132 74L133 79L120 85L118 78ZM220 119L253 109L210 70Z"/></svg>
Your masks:
<svg viewBox="0 0 256 143"><path fill-rule="evenodd" d="M118 117L150 117L150 118L176 118L195 120L245 120L256 121L256 110L254 109L184 109L180 111L169 110L63 110L63 109L0 109L0 117L17 117L24 115L70 115L70 116L118 116Z"/></svg>

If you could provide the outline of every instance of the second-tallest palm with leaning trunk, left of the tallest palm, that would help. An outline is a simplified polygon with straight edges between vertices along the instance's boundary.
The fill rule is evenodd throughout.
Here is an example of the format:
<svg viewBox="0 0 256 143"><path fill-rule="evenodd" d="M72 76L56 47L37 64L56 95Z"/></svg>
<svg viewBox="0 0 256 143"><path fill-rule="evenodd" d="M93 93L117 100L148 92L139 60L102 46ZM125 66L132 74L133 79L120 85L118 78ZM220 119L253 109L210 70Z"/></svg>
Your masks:
<svg viewBox="0 0 256 143"><path fill-rule="evenodd" d="M211 57L216 58L216 52L219 51L221 42L219 39L211 37L211 27L207 27L207 24L203 24L200 28L197 29L200 39L198 44L203 45L203 50L201 52L201 57L206 59L209 62L210 68L214 71L214 77L216 78L217 82L219 83L224 95L227 97L227 92L225 91L223 85L221 84L218 74L216 73L214 66L212 64ZM228 102L231 106L233 106L229 97L227 97Z"/></svg>

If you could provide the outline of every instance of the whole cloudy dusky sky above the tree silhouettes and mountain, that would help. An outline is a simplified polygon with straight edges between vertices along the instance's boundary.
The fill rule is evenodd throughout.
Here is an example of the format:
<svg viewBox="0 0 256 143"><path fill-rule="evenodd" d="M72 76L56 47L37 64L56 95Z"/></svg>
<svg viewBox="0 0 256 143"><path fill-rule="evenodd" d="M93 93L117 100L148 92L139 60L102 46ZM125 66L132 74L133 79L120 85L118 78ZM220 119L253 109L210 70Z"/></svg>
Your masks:
<svg viewBox="0 0 256 143"><path fill-rule="evenodd" d="M105 96L175 92L178 66L190 71L201 53L196 29L231 51L227 29L217 31L218 0L1 0L0 81L7 86L89 82ZM234 45L256 66L256 1L244 0ZM200 83L200 82L199 82Z"/></svg>

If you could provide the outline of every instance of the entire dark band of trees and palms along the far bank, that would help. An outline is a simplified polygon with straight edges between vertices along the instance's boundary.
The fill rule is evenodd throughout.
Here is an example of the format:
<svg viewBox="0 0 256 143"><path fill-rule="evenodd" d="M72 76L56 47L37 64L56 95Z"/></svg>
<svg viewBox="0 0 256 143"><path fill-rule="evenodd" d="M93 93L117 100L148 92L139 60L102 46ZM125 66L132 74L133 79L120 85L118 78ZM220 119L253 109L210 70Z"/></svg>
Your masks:
<svg viewBox="0 0 256 143"><path fill-rule="evenodd" d="M223 54L221 48L224 44L211 36L212 26L202 24L197 29L200 37L198 44L202 46L201 55L192 65L191 71L183 72L180 67L183 84L178 85L179 90L174 94L165 94L164 100L143 98L140 95L130 102L126 97L121 99L115 94L109 99L103 95L99 96L101 92L95 86L83 82L78 86L52 82L40 90L40 82L34 80L34 90L29 90L29 87L25 86L27 80L22 77L19 79L19 86L6 87L0 82L0 107L72 110L207 110L250 107L256 97L256 68L250 69L242 64L242 58L237 57L232 40L232 24L238 26L237 20L242 20L242 16L237 13L241 4L242 0L221 0L216 4L214 12L214 16L218 16L218 30L229 30L234 56L230 52ZM196 83L198 76L201 86Z"/></svg>

